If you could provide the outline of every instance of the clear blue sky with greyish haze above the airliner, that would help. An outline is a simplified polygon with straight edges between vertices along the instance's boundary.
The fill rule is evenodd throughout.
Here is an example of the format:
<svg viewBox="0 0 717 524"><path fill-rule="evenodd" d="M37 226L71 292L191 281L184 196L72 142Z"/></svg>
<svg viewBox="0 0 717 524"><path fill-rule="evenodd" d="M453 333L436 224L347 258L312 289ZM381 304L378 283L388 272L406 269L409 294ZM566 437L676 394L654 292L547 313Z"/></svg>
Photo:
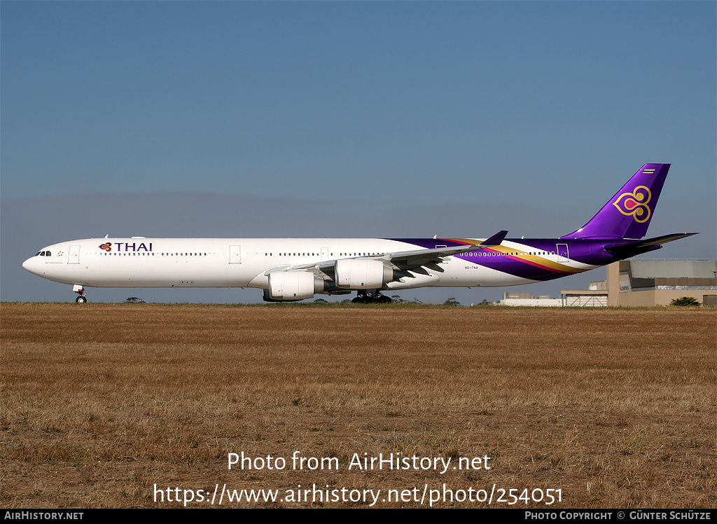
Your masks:
<svg viewBox="0 0 717 524"><path fill-rule="evenodd" d="M702 233L656 254L713 258L716 5L3 1L1 298L54 299L16 267L42 245L138 228L562 235L645 162L650 234Z"/></svg>

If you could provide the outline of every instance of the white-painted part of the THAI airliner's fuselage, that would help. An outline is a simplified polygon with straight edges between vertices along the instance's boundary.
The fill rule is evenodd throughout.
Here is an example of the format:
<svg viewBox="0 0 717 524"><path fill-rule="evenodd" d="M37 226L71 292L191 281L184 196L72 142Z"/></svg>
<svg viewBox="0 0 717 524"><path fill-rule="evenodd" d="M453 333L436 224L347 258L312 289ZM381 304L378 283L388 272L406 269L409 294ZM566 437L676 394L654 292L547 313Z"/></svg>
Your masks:
<svg viewBox="0 0 717 524"><path fill-rule="evenodd" d="M436 247L440 243L436 240ZM88 287L267 289L268 273L275 268L415 249L414 244L381 238L90 238L49 245L23 267L44 279ZM581 266L579 271L594 267L565 263ZM384 289L533 282L455 257L440 263L440 269L387 282Z"/></svg>

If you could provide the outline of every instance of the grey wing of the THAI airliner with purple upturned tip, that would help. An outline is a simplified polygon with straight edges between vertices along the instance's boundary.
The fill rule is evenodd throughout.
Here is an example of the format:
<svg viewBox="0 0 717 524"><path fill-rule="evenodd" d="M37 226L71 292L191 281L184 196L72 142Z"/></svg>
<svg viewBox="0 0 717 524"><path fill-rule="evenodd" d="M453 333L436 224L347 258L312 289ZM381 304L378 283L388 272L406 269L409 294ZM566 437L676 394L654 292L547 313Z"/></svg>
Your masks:
<svg viewBox="0 0 717 524"><path fill-rule="evenodd" d="M505 239L508 231L499 231L483 242L468 245L455 245L450 248L434 248L434 249L416 249L413 251L397 251L395 253L381 253L372 256L357 256L353 258L362 258L366 260L376 260L384 263L385 266L396 270L396 280L404 277L415 278L412 273L429 274L427 269L439 271L444 270L439 266L440 263L447 261L453 255L458 253L466 253L467 251L480 251L486 248L492 248L500 245ZM322 279L335 280L334 268L336 260L317 262L313 264L298 264L294 266L276 266L266 271L265 275L275 271L310 271L315 273Z"/></svg>

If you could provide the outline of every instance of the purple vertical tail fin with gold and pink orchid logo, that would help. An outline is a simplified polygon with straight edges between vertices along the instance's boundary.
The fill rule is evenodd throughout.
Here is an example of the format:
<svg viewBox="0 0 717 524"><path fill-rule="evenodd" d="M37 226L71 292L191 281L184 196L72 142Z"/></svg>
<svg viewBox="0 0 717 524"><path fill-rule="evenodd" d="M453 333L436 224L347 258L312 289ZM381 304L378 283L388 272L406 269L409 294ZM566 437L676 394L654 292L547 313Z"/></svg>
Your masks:
<svg viewBox="0 0 717 524"><path fill-rule="evenodd" d="M645 164L597 215L561 238L635 238L647 234L670 164Z"/></svg>

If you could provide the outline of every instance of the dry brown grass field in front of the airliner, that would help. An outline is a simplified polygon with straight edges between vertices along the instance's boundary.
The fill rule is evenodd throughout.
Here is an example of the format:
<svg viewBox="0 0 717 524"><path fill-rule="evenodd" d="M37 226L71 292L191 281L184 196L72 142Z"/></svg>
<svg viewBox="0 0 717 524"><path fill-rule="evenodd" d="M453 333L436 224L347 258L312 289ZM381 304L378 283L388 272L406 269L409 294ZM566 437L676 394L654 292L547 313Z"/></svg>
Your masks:
<svg viewBox="0 0 717 524"><path fill-rule="evenodd" d="M215 507L222 492L222 507L368 507L377 490L374 507L487 507L491 493L491 507L717 505L713 309L0 315L3 507L180 507L190 494L210 507L215 490ZM263 469L230 470L242 452ZM295 453L325 469L295 469ZM354 454L411 467L349 469ZM561 501L546 506L548 493Z"/></svg>

